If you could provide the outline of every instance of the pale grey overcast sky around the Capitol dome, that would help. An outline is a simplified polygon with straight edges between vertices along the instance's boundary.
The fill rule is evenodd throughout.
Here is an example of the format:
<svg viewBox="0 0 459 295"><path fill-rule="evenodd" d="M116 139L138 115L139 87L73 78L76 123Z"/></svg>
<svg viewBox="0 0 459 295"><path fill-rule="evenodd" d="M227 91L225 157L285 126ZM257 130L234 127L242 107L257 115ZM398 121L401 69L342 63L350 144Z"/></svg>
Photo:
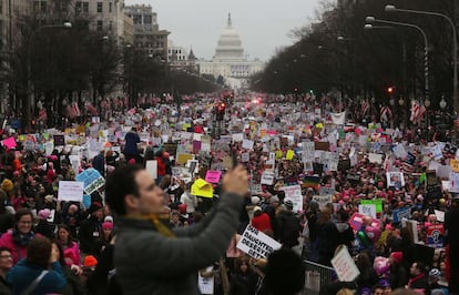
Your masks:
<svg viewBox="0 0 459 295"><path fill-rule="evenodd" d="M125 0L150 4L160 29L171 32L175 45L193 48L197 58L212 59L231 12L249 59L267 61L276 48L293 43L289 32L310 23L319 0Z"/></svg>

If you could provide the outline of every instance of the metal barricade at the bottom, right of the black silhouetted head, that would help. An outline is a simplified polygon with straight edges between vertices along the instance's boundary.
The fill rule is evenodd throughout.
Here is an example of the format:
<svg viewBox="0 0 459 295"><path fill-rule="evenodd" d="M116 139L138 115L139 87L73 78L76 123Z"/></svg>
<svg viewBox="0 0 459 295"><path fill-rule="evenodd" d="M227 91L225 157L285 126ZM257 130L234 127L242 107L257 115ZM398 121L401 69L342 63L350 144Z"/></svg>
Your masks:
<svg viewBox="0 0 459 295"><path fill-rule="evenodd" d="M334 281L334 268L317 264L312 261L305 261L306 274L305 274L305 287L303 295L316 295L319 294L320 288L328 285Z"/></svg>

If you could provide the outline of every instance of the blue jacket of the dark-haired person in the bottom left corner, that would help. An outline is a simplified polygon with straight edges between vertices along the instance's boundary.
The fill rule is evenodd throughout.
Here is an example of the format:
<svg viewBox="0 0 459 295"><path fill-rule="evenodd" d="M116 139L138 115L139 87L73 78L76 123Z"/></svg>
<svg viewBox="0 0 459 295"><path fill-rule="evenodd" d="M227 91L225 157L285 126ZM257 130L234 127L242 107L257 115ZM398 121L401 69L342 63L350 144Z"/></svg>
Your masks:
<svg viewBox="0 0 459 295"><path fill-rule="evenodd" d="M26 258L20 260L8 273L7 282L12 285L12 294L22 292L43 272L43 267L30 264ZM43 276L30 295L58 293L67 285L65 275L59 262L51 264L51 269Z"/></svg>

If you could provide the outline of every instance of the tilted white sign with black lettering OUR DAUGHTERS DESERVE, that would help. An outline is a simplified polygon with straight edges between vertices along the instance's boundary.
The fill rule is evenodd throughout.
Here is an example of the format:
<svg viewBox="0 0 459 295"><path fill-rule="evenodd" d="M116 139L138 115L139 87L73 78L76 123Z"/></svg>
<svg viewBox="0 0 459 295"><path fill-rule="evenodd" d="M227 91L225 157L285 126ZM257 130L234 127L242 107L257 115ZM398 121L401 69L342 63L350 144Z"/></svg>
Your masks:
<svg viewBox="0 0 459 295"><path fill-rule="evenodd" d="M245 227L236 247L254 258L266 258L271 253L280 248L280 244L252 225Z"/></svg>

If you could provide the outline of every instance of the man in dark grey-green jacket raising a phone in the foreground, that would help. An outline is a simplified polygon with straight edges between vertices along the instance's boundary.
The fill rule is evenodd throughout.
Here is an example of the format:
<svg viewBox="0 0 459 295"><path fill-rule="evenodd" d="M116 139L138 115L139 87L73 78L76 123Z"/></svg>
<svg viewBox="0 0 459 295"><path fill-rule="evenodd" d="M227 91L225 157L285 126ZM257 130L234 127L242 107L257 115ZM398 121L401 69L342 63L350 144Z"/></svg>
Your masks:
<svg viewBox="0 0 459 295"><path fill-rule="evenodd" d="M142 167L115 170L106 180L105 201L118 215L114 253L124 295L201 294L197 272L225 253L238 225L248 174L227 172L216 207L198 224L171 230L164 193Z"/></svg>

